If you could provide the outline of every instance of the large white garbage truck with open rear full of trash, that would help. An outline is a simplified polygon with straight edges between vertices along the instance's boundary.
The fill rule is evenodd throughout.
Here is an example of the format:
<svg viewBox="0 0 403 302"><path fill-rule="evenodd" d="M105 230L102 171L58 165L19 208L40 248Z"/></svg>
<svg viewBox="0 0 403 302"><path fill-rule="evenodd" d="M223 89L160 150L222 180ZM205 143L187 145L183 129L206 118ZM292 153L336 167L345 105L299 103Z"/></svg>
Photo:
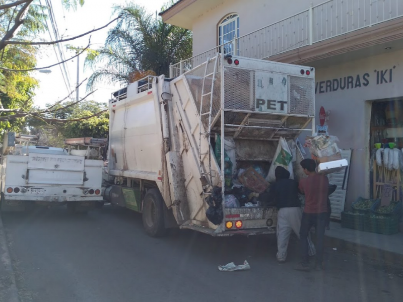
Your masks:
<svg viewBox="0 0 403 302"><path fill-rule="evenodd" d="M314 132L314 77L312 67L218 53L112 93L104 199L141 212L153 237L276 233L277 209L259 199L273 163L292 161L283 149L274 158L279 143Z"/></svg>

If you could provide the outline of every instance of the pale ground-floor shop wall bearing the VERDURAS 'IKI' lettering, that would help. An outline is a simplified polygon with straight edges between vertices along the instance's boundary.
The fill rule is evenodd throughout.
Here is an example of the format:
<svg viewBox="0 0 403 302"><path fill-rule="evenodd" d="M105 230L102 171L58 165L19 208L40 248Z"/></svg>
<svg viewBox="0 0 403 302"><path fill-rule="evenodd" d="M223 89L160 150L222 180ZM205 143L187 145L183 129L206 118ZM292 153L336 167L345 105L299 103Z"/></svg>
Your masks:
<svg viewBox="0 0 403 302"><path fill-rule="evenodd" d="M357 75L360 82L357 82ZM340 82L342 78L344 83L344 77L349 76L354 78L354 88L350 85L348 89L330 91L328 85L326 92L326 81L338 79ZM323 106L330 111L329 134L339 137L339 147L353 149L346 206L359 196L369 197L369 148L373 146L369 146L371 102L368 101L403 97L401 79L403 51L316 69L316 123L319 123L319 108Z"/></svg>

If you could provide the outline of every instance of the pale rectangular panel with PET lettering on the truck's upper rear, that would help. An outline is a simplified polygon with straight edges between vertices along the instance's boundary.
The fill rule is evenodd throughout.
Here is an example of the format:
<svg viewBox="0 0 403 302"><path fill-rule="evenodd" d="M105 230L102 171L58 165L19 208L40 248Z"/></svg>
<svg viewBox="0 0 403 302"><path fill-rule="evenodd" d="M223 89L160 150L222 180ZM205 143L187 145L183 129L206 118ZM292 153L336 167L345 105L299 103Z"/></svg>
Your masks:
<svg viewBox="0 0 403 302"><path fill-rule="evenodd" d="M255 111L288 113L288 83L286 75L256 71L255 93Z"/></svg>

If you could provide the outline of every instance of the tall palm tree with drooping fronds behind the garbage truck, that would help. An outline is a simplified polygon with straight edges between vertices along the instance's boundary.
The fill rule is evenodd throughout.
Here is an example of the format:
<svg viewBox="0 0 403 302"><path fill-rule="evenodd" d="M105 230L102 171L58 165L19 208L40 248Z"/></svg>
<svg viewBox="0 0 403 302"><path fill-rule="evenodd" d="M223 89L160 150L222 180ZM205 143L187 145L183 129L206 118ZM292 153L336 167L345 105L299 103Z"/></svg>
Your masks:
<svg viewBox="0 0 403 302"><path fill-rule="evenodd" d="M94 71L87 87L98 82L127 85L146 75L169 74L169 65L192 53L187 29L162 22L134 3L114 7L121 17L108 32L105 45L87 54L86 66L104 65Z"/></svg>

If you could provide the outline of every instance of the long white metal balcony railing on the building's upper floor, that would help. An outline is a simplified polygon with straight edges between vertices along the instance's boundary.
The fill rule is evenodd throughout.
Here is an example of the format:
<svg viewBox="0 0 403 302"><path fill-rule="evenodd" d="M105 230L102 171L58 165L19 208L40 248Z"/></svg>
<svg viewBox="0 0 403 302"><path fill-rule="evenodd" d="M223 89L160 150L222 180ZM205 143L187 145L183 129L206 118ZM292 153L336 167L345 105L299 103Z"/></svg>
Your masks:
<svg viewBox="0 0 403 302"><path fill-rule="evenodd" d="M402 0L329 0L235 38L224 47L171 65L170 78L214 57L220 49L236 49L237 55L265 59L402 16Z"/></svg>

